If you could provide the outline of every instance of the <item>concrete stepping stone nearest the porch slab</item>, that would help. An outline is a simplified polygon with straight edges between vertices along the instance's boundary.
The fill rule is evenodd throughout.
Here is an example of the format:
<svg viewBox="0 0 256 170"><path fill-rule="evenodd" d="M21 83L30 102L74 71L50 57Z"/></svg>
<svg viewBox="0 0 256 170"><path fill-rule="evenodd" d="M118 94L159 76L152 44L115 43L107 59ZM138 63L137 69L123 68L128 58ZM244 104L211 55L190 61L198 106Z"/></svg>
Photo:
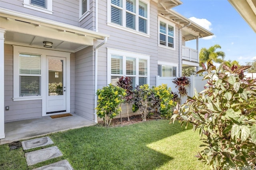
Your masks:
<svg viewBox="0 0 256 170"><path fill-rule="evenodd" d="M53 142L52 142L52 139L50 139L50 137L41 137L37 139L31 139L28 141L22 141L21 144L23 149L27 150L27 149L50 145L50 144L53 144Z"/></svg>

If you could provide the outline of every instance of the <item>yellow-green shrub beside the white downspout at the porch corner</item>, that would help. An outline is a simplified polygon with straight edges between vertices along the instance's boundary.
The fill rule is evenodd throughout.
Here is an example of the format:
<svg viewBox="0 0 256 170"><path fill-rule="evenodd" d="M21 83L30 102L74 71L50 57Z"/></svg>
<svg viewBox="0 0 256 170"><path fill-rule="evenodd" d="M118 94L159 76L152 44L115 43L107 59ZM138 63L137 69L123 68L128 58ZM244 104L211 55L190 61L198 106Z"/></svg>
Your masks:
<svg viewBox="0 0 256 170"><path fill-rule="evenodd" d="M98 117L103 118L106 127L108 127L111 120L122 111L119 105L124 102L123 97L126 96L126 92L123 88L109 84L98 89L96 94L98 95L96 113Z"/></svg>

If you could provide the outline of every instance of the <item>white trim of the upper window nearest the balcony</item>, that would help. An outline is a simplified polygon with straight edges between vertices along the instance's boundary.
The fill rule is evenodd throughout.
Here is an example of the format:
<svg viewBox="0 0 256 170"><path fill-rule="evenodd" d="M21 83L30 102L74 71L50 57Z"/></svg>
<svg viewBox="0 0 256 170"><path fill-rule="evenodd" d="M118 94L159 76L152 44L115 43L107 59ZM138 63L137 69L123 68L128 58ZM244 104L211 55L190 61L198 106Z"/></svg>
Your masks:
<svg viewBox="0 0 256 170"><path fill-rule="evenodd" d="M173 39L173 42L174 42L174 44L173 44L173 48L172 47L168 47L167 45L168 45L168 43L166 43L167 45L161 45L160 44L160 37L159 37L159 34L160 34L160 21L162 21L162 22L164 22L164 23L166 23L167 25L171 25L171 26L173 26L173 35L174 35L174 39ZM166 34L168 34L168 28L167 28L167 30L166 30ZM173 23L173 22L171 22L171 21L169 21L169 20L166 20L166 19L164 19L164 18L161 18L161 17L159 17L158 16L158 47L162 47L162 48L166 48L166 49L171 49L171 50L176 50L176 37L175 37L175 35L176 35L176 25L175 25L175 23ZM167 37L168 38L168 37ZM168 39L166 39L166 42L168 41Z"/></svg>

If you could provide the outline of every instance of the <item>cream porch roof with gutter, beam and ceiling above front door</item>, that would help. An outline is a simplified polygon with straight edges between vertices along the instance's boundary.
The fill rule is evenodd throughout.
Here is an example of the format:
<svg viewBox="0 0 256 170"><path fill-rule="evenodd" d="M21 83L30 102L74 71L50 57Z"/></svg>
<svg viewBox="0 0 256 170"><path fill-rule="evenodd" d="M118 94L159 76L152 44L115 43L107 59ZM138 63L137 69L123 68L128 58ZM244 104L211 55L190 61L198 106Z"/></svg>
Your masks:
<svg viewBox="0 0 256 170"><path fill-rule="evenodd" d="M50 41L51 49L59 51L76 52L93 45L94 39L109 37L95 31L5 9L0 9L0 23L0 27L6 29L5 43L45 48L43 41Z"/></svg>

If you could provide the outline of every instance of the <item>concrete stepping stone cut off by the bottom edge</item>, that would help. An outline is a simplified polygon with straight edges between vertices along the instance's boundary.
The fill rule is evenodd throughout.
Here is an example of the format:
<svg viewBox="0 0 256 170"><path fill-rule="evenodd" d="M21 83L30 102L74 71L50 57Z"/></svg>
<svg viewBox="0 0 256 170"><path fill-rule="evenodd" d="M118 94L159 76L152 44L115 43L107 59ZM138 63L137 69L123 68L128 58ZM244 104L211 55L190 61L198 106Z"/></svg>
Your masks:
<svg viewBox="0 0 256 170"><path fill-rule="evenodd" d="M36 168L34 170L74 170L74 169L69 164L69 162L65 159L65 160L61 160L59 162L55 162L53 164L49 164L46 166Z"/></svg>

